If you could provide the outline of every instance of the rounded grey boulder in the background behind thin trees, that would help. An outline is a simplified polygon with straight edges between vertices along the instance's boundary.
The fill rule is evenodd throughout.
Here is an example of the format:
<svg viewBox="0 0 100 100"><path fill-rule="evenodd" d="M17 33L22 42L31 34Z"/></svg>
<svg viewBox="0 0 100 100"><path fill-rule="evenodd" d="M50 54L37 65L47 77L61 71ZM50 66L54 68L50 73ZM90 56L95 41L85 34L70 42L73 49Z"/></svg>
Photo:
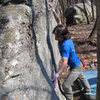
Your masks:
<svg viewBox="0 0 100 100"><path fill-rule="evenodd" d="M89 3L85 3L85 8L87 11L87 15L89 20L92 18L91 5ZM66 9L65 15L67 24L78 24L86 21L86 16L84 13L83 3L78 3L71 5ZM96 18L96 7L94 6L94 17Z"/></svg>

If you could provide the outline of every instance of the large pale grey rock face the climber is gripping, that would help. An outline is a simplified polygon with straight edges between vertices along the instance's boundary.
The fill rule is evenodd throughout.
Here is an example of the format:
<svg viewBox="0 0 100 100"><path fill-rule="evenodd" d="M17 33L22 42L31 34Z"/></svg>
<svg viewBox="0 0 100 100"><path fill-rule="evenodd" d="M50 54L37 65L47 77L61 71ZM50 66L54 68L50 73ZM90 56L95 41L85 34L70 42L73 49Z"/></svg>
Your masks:
<svg viewBox="0 0 100 100"><path fill-rule="evenodd" d="M60 56L46 0L15 1L0 0L0 100L65 100L51 81Z"/></svg>

